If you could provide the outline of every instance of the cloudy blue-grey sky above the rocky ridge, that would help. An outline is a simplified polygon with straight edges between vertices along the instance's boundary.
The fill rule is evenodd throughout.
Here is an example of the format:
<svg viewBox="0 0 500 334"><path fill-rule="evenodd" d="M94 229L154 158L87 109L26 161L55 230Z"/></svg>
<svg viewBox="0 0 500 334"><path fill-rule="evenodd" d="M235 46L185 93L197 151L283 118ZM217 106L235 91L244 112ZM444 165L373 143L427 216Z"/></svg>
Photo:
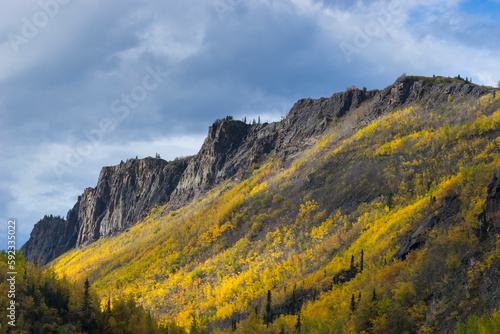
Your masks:
<svg viewBox="0 0 500 334"><path fill-rule="evenodd" d="M500 80L500 0L40 0L0 12L0 249L103 166L196 154L217 118L397 77Z"/></svg>

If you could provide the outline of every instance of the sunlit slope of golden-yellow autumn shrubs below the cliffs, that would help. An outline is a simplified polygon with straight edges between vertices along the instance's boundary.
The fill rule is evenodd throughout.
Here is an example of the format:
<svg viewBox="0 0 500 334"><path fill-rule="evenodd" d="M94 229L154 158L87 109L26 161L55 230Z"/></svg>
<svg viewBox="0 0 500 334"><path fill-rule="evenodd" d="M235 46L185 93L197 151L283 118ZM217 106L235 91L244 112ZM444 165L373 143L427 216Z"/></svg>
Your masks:
<svg viewBox="0 0 500 334"><path fill-rule="evenodd" d="M477 216L500 171L496 94L374 121L360 108L292 165L265 161L241 183L166 216L156 208L53 266L88 277L101 296L132 294L161 319L189 327L194 316L208 331L291 333L299 313L303 333L453 326L480 307L463 263L478 251ZM457 216L393 260L447 198L458 201ZM488 245L476 260L485 266L500 258ZM454 294L448 284L464 270ZM458 296L468 282L469 295Z"/></svg>

